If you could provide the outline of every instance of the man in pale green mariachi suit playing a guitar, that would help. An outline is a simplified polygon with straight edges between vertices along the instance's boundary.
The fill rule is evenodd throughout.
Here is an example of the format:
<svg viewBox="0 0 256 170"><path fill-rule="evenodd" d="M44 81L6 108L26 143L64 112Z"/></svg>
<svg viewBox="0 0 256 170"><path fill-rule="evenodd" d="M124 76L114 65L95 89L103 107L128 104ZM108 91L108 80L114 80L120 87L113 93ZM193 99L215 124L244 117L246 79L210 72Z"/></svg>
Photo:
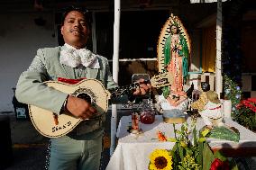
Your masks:
<svg viewBox="0 0 256 170"><path fill-rule="evenodd" d="M107 59L86 49L89 22L81 8L71 7L63 13L61 34L64 46L38 49L27 71L20 76L16 97L22 103L61 113L70 112L80 119L96 115L96 109L86 100L62 93L44 85L47 80L96 78L105 87L116 84L109 71ZM151 85L141 84L133 94L145 94ZM50 170L87 169L100 166L105 115L98 120L82 121L67 136L50 139Z"/></svg>

